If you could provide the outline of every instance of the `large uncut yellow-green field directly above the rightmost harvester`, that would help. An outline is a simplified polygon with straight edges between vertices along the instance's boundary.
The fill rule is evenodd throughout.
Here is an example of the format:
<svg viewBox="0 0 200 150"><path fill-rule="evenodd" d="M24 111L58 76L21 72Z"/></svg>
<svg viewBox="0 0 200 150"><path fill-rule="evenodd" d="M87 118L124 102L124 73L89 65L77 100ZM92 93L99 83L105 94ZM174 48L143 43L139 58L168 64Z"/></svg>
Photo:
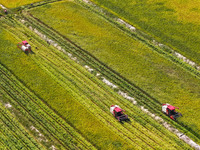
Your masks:
<svg viewBox="0 0 200 150"><path fill-rule="evenodd" d="M59 32L60 37L70 39L104 65L118 72L118 75L128 79L126 81L132 86L140 87L152 95L155 110L151 107L149 109L153 112L162 115L161 103L180 107L184 117L180 118L178 123L200 138L199 71L197 75L191 74L190 70L177 65L176 61L172 62L165 55L155 52L152 46L148 47L149 45L139 42L136 36L123 32L116 24L109 23L106 16L92 13L92 9L77 2L58 2L32 9L30 12L34 17L24 15L30 22L29 25L37 28L34 22L38 23L39 19L49 28L55 29L54 32ZM38 29L48 34L45 26L40 24ZM54 35L51 38L59 39ZM60 44L62 45L62 42ZM77 57L79 55L77 54ZM114 79L113 76L110 80L113 83L118 82L118 78ZM126 83L123 83L123 86L126 86L125 91L134 95Z"/></svg>

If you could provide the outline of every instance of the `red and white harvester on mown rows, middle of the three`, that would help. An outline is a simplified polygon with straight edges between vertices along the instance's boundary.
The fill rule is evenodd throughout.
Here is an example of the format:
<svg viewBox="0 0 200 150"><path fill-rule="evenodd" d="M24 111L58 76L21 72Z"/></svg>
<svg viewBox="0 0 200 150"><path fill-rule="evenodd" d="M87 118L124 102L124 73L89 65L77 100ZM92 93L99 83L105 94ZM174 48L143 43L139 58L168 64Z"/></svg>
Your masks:
<svg viewBox="0 0 200 150"><path fill-rule="evenodd" d="M128 115L125 115L123 112L124 110L121 109L118 105L111 105L110 112L113 116L119 121L130 121Z"/></svg>

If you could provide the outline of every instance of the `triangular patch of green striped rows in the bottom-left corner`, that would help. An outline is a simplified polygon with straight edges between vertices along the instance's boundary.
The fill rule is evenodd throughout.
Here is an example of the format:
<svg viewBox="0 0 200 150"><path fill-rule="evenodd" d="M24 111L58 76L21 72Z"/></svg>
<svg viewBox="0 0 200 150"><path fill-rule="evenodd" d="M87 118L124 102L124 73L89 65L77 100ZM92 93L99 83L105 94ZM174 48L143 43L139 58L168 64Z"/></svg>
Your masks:
<svg viewBox="0 0 200 150"><path fill-rule="evenodd" d="M14 118L11 118L11 113L9 113L3 106L0 104L0 130L2 136L0 141L9 148L21 149L42 149L42 146L39 145L36 140L26 132Z"/></svg>

